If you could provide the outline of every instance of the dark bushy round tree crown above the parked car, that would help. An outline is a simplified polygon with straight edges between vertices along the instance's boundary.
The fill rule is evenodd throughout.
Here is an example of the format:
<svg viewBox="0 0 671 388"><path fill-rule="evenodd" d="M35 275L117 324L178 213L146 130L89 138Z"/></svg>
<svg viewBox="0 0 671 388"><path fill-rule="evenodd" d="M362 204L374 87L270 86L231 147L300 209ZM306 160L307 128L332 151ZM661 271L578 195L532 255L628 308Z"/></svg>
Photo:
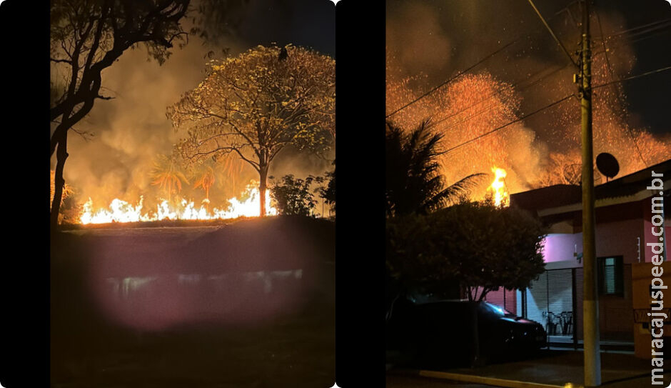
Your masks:
<svg viewBox="0 0 671 388"><path fill-rule="evenodd" d="M462 202L387 220L387 268L406 289L441 294L460 284L471 301L523 289L543 273L545 228L528 212Z"/></svg>

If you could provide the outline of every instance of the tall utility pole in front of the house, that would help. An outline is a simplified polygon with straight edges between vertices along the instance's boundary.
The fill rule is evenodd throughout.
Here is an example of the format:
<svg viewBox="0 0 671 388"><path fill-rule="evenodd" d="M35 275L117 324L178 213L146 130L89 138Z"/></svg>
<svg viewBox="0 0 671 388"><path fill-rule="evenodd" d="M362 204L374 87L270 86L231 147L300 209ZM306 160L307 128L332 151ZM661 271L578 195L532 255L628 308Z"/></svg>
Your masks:
<svg viewBox="0 0 671 388"><path fill-rule="evenodd" d="M590 48L589 0L583 1L582 53L579 91L582 113L582 341L585 357L585 387L601 385L599 344L599 294L594 232L594 157L592 151L592 52Z"/></svg>

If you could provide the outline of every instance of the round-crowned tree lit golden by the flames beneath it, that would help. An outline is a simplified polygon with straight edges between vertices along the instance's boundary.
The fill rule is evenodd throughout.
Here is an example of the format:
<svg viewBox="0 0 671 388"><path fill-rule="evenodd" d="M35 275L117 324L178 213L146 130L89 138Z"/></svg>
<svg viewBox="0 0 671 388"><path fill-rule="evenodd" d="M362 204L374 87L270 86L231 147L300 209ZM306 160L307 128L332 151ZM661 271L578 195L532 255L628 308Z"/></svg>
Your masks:
<svg viewBox="0 0 671 388"><path fill-rule="evenodd" d="M286 146L328 149L335 139L335 61L301 47L257 46L214 62L168 107L188 159L236 154L259 175L261 216L271 162Z"/></svg>

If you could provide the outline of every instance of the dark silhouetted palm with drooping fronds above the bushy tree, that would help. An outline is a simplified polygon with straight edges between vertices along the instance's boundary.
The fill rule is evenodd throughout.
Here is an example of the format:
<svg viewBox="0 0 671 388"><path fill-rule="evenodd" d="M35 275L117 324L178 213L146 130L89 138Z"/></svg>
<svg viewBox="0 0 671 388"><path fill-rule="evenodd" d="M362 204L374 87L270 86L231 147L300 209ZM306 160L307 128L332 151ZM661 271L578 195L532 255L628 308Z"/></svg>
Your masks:
<svg viewBox="0 0 671 388"><path fill-rule="evenodd" d="M470 174L445 187L445 178L438 174L438 145L442 134L432 133L428 121L406 134L387 122L385 136L385 197L388 217L404 214L426 214L440 209L467 194L480 176Z"/></svg>

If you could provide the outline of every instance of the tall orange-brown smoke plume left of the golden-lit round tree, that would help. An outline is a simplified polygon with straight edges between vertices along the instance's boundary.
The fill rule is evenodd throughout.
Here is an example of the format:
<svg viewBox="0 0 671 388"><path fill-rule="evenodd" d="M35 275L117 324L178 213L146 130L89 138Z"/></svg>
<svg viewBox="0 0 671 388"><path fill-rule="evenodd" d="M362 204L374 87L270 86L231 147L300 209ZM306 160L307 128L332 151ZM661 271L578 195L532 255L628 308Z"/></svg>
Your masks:
<svg viewBox="0 0 671 388"><path fill-rule="evenodd" d="M170 154L176 141L166 106L203 79L207 52L207 46L191 37L162 66L147 61L141 47L124 53L103 73L103 92L114 99L96 101L76 126L94 137L70 136L66 182L94 202L136 200L146 192L153 159Z"/></svg>

